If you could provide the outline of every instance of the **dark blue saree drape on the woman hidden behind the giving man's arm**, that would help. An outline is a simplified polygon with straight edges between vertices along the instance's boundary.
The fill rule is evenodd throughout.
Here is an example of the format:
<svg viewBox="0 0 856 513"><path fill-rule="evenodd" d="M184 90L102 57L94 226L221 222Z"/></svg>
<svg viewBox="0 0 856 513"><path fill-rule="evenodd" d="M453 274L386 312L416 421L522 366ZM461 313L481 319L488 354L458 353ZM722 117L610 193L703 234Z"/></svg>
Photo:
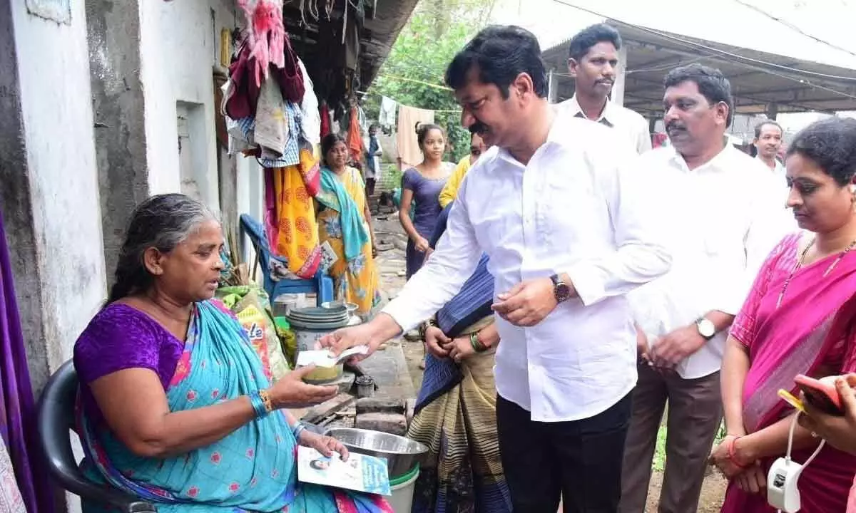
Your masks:
<svg viewBox="0 0 856 513"><path fill-rule="evenodd" d="M446 230L449 211L455 202L437 216L437 227L431 235L431 247L436 247L437 241ZM482 255L479 265L473 274L461 286L461 292L452 298L443 308L437 310L437 326L447 337L455 338L464 329L472 326L480 319L492 315L490 305L493 304L494 280L487 270L489 260ZM422 376L422 386L416 397L414 411L419 412L431 401L448 392L450 388L461 382L461 369L452 360L440 359L431 354L425 356L425 373Z"/></svg>

